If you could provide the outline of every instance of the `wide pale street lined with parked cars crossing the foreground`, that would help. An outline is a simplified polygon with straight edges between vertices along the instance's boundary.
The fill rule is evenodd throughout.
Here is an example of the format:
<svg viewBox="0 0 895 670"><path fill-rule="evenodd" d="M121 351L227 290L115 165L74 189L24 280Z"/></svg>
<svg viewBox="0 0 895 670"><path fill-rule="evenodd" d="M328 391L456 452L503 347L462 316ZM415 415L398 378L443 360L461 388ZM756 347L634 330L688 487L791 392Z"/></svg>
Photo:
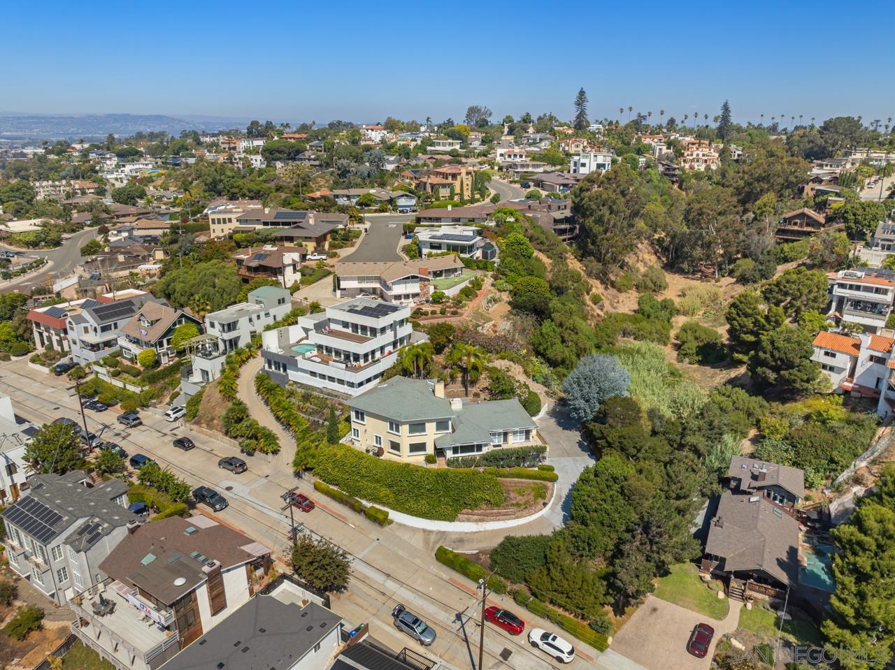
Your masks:
<svg viewBox="0 0 895 670"><path fill-rule="evenodd" d="M65 377L38 373L24 360L0 365L0 391L13 398L18 414L38 423L63 416L81 422L77 400L66 386L69 383ZM189 426L167 423L159 410L142 410L144 425L135 429L123 428L116 423L116 417L114 410L88 411L88 427L100 437L122 445L129 454L149 455L192 487L202 484L221 491L230 506L213 516L272 547L277 556L288 555L286 533L290 522L288 512L282 511L281 496L288 488L297 486L318 506L311 513L295 512L295 521L303 522L304 528L343 547L352 556L349 587L333 596L333 610L350 623L370 623L371 634L391 649L408 647L423 656L440 657L460 670L473 668L479 637L479 610L473 583L438 564L430 552L409 543L392 529L379 527L320 496L310 481L295 479L288 467L291 454L287 453L294 446L283 445L284 454L279 456L258 454L247 459L249 470L234 475L217 467L221 457L237 455L233 446ZM185 453L176 449L171 441L178 436L191 437L196 448ZM203 509L202 513L208 511ZM438 640L433 647L421 648L395 630L391 610L399 602L436 630ZM492 594L489 604L519 609L511 598ZM519 614L526 620L526 627L555 629L531 613ZM579 647L581 651L584 649ZM504 661L501 655L507 652ZM569 670L594 667L589 658L579 657L565 667ZM598 658L595 666L606 667L601 661ZM514 638L488 625L484 668L548 670L556 666L550 658L531 649L524 637Z"/></svg>

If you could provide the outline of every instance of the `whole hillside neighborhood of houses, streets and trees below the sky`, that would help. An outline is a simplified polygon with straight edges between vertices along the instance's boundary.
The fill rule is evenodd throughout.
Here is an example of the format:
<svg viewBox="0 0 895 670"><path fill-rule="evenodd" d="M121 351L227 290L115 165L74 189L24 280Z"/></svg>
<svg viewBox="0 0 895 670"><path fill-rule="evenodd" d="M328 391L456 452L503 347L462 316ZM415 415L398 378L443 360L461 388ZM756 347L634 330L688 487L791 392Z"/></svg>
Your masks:
<svg viewBox="0 0 895 670"><path fill-rule="evenodd" d="M541 88L0 117L0 667L891 667L892 119Z"/></svg>

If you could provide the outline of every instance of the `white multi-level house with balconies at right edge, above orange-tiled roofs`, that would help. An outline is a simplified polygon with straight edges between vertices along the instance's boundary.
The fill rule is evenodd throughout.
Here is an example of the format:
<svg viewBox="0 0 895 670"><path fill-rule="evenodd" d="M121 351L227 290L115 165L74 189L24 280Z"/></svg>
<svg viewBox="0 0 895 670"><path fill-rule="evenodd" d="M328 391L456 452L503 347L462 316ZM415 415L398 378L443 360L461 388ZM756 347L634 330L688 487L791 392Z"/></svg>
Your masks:
<svg viewBox="0 0 895 670"><path fill-rule="evenodd" d="M830 282L830 309L837 323L859 324L865 332L885 327L895 300L895 273L888 269L856 267L827 274Z"/></svg>

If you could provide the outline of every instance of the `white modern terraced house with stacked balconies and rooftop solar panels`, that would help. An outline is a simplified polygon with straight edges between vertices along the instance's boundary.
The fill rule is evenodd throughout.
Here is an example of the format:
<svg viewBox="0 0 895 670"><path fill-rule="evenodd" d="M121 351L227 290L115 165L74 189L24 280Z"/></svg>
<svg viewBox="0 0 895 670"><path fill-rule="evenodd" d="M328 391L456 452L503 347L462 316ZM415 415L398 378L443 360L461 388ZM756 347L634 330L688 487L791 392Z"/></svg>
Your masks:
<svg viewBox="0 0 895 670"><path fill-rule="evenodd" d="M261 335L264 371L278 384L289 381L348 395L379 382L411 342L410 308L354 298L298 319L294 326Z"/></svg>

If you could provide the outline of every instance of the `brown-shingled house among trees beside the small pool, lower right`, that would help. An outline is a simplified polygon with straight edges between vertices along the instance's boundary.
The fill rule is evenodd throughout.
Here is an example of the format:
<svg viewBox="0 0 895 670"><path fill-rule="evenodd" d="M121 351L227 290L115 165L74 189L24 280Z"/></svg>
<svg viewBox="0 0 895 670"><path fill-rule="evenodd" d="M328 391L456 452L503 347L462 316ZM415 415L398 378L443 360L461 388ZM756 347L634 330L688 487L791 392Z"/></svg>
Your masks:
<svg viewBox="0 0 895 670"><path fill-rule="evenodd" d="M702 569L728 581L728 595L780 596L799 585L795 508L805 496L801 470L733 456L728 488L709 526Z"/></svg>

